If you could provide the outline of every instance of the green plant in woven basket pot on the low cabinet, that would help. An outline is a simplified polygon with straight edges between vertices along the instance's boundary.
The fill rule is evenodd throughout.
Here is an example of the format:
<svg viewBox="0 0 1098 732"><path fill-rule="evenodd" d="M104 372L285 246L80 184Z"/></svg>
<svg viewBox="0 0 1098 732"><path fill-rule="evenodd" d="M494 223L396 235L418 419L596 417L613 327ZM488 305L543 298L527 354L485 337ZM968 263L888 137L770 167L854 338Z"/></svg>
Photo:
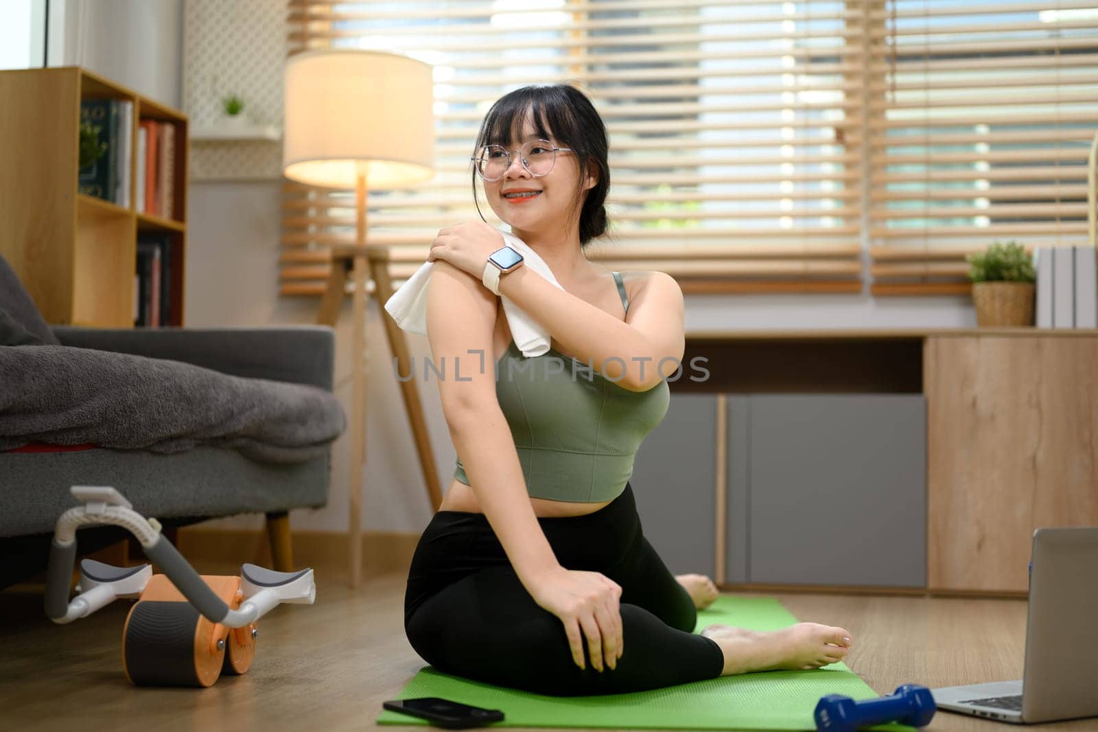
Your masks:
<svg viewBox="0 0 1098 732"><path fill-rule="evenodd" d="M966 257L972 300L981 327L1033 325L1037 275L1033 258L1017 241L995 241L986 251Z"/></svg>

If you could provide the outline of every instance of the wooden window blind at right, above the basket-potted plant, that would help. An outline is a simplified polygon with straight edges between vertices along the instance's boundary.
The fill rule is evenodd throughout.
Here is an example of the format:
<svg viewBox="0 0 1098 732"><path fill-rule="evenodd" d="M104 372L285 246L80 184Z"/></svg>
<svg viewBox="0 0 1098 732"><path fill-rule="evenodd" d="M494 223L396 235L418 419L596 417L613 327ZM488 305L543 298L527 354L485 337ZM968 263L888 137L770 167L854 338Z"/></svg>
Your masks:
<svg viewBox="0 0 1098 732"><path fill-rule="evenodd" d="M1098 2L888 0L871 11L874 294L965 293L964 256L1087 238Z"/></svg>

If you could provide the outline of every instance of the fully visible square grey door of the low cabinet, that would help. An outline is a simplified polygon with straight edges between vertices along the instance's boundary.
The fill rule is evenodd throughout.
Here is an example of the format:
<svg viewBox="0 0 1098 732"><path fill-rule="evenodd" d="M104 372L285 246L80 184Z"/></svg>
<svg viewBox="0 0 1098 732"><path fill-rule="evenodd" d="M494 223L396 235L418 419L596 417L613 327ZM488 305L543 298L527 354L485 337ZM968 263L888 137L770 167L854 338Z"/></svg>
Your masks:
<svg viewBox="0 0 1098 732"><path fill-rule="evenodd" d="M744 401L748 581L925 587L923 396Z"/></svg>

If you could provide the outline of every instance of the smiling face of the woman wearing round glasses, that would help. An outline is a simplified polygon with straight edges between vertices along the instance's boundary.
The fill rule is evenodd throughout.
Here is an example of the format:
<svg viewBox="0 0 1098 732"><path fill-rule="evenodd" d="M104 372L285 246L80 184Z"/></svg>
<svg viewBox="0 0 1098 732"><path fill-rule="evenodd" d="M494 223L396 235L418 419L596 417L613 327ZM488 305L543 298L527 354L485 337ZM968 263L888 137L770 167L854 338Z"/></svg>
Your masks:
<svg viewBox="0 0 1098 732"><path fill-rule="evenodd" d="M559 150L552 170L545 176L534 177L523 167L517 150L523 143L536 139L544 137L537 134L527 120L523 124L520 138L508 140L504 145L511 151L511 166L503 177L483 181L484 194L492 211L509 224L513 230L541 232L553 226L560 227L578 212L579 164L575 154ZM562 147L552 136L548 140L553 147ZM594 184L593 180L589 180L584 183L584 190Z"/></svg>

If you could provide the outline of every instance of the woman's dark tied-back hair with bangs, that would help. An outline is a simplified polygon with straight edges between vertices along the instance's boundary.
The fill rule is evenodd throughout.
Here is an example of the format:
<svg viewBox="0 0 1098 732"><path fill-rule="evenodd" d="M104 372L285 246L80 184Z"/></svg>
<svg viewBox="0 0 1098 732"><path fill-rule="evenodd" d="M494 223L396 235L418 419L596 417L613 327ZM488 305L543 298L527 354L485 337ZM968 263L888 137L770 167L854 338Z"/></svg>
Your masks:
<svg viewBox="0 0 1098 732"><path fill-rule="evenodd" d="M539 136L546 139L552 137L561 147L572 148L579 162L579 192L572 221L575 209L580 209L580 246L586 246L591 239L606 233L604 204L606 192L610 188L606 125L591 100L575 87L563 83L522 87L497 99L488 111L473 149L483 145L509 145L512 139L522 137L523 123L528 116ZM596 174L597 182L584 192L583 182L589 173ZM472 177L477 213L484 221L480 202L477 201L475 170ZM579 205L581 201L582 209Z"/></svg>

